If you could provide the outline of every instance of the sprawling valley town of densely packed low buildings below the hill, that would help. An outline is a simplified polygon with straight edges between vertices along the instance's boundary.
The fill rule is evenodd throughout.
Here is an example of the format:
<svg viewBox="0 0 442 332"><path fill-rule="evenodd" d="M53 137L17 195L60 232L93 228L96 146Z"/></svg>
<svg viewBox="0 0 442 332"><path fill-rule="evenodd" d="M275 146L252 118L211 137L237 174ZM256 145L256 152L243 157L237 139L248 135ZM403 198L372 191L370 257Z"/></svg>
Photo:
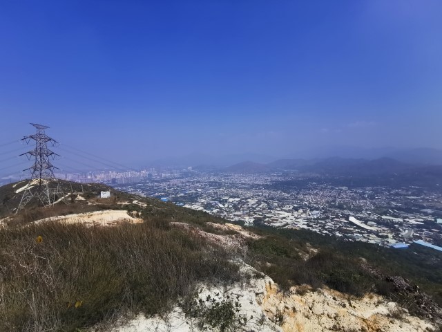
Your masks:
<svg viewBox="0 0 442 332"><path fill-rule="evenodd" d="M382 246L442 242L442 194L420 187L349 188L299 174L193 172L119 189L249 225L304 228Z"/></svg>

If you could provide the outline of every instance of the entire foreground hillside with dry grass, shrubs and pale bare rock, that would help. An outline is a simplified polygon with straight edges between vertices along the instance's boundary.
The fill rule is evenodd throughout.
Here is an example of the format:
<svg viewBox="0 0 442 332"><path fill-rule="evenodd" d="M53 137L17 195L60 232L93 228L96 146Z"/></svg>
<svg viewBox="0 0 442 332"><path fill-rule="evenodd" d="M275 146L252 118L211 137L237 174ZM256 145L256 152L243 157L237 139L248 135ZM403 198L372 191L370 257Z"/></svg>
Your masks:
<svg viewBox="0 0 442 332"><path fill-rule="evenodd" d="M412 248L410 257L305 230L245 228L96 184L64 182L66 203L11 214L25 184L0 187L0 331L432 331L441 323L439 252ZM101 190L112 196L99 199Z"/></svg>

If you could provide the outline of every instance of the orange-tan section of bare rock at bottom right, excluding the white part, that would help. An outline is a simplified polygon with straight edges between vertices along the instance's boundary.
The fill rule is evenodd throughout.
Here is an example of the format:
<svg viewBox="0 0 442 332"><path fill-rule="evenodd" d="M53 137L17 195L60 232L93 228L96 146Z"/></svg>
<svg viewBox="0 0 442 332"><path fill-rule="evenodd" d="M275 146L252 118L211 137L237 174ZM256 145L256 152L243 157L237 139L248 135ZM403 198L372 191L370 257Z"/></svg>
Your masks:
<svg viewBox="0 0 442 332"><path fill-rule="evenodd" d="M394 302L378 295L348 297L329 289L306 291L305 286L280 293L275 284L267 284L260 295L263 311L282 331L433 331L434 326L413 317Z"/></svg>

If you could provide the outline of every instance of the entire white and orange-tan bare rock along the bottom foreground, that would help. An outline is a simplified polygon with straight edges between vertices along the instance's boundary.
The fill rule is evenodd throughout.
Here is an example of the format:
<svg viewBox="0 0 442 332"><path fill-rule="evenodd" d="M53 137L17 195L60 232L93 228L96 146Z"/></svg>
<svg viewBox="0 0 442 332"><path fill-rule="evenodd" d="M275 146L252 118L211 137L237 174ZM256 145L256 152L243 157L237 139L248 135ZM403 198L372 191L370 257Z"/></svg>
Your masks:
<svg viewBox="0 0 442 332"><path fill-rule="evenodd" d="M327 288L312 291L309 286L292 287L280 292L278 285L267 276L259 277L256 270L239 262L249 282L226 286L200 285L198 299L215 302L232 299L238 302L238 317L246 317L247 323L240 329L227 331L363 331L363 332L415 332L434 331L429 321L410 315L407 310L384 297L368 294L349 297ZM211 326L200 329L198 317L185 315L180 306L165 315L144 317L118 327L113 332L141 331L220 331Z"/></svg>

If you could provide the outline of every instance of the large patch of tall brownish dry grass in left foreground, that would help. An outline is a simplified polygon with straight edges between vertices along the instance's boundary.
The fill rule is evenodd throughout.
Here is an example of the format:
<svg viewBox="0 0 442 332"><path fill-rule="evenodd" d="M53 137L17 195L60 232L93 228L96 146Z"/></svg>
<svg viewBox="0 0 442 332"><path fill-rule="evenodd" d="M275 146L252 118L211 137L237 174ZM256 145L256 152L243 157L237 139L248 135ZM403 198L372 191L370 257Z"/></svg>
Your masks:
<svg viewBox="0 0 442 332"><path fill-rule="evenodd" d="M0 331L75 331L126 312L159 313L195 282L238 276L222 249L162 219L41 223L2 230L0 243Z"/></svg>

